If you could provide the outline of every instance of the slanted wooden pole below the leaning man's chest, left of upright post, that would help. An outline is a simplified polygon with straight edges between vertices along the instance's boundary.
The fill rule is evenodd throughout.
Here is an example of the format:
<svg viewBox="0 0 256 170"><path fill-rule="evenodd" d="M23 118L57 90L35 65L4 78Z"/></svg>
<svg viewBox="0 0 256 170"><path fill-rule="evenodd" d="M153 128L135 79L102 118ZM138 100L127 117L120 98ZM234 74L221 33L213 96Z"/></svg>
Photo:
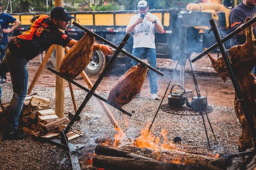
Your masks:
<svg viewBox="0 0 256 170"><path fill-rule="evenodd" d="M50 46L50 48L48 49L47 53L45 54L45 56L44 56L44 58L43 58L43 61L42 61L41 65L39 66L39 68L38 68L38 70L37 70L37 73L36 73L34 79L32 80L32 82L31 82L31 84L30 84L28 90L27 90L27 95L30 95L30 93L32 92L32 89L34 88L34 86L35 86L35 84L36 84L36 82L37 82L37 79L38 79L39 75L41 74L41 72L42 72L44 66L45 66L46 63L48 62L48 60L49 60L49 58L50 58L50 56L51 56L51 54L52 54L53 49L55 48L55 46L56 46L55 44L52 45L52 46Z"/></svg>

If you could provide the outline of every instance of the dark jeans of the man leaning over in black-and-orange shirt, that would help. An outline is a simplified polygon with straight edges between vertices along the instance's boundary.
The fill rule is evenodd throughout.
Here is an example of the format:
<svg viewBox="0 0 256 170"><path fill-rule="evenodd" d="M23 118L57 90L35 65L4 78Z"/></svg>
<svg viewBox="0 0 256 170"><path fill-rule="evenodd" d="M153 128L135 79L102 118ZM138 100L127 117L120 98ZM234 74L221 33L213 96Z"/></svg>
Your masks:
<svg viewBox="0 0 256 170"><path fill-rule="evenodd" d="M7 48L3 62L0 65L0 74L6 73L8 70L10 71L14 92L7 117L7 125L5 127L5 130L7 131L14 131L18 129L18 119L21 114L24 100L27 96L27 63L28 60L11 55L11 52Z"/></svg>

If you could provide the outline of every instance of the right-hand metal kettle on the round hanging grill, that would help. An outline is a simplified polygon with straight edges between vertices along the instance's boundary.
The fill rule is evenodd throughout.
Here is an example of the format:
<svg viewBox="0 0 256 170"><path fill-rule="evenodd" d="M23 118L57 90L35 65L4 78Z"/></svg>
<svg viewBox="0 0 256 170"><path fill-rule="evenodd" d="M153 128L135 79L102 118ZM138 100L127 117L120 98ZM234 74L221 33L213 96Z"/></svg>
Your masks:
<svg viewBox="0 0 256 170"><path fill-rule="evenodd" d="M197 93L198 93L199 99L197 97ZM186 100L186 105L188 107L192 108L193 111L200 111L201 109L202 109L202 111L206 111L207 105L208 105L207 91L206 90L198 90L197 93L196 93L196 90L192 90L192 92L191 92L191 96L192 96L191 103L188 103L188 100Z"/></svg>

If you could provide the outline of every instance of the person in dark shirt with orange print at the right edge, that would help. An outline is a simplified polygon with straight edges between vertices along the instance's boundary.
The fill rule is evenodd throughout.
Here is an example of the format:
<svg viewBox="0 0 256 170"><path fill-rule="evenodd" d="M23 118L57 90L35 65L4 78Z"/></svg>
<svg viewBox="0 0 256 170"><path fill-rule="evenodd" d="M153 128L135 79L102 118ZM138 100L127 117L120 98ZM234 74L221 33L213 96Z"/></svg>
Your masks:
<svg viewBox="0 0 256 170"><path fill-rule="evenodd" d="M233 8L229 13L229 30L232 32L242 24L244 24L246 17L255 17L256 16L256 1L255 0L243 0L243 2ZM256 23L252 24L253 34L256 35ZM235 35L231 39L231 47L234 45L245 44L246 35L245 30L242 30L240 33ZM252 73L256 73L256 66L254 66Z"/></svg>

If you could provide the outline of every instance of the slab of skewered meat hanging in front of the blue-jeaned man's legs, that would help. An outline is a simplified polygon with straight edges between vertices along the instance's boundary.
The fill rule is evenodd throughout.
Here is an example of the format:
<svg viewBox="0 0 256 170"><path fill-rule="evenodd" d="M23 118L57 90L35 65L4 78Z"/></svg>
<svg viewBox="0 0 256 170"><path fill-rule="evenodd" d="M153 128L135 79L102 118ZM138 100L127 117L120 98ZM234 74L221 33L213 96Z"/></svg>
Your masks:
<svg viewBox="0 0 256 170"><path fill-rule="evenodd" d="M143 61L148 63L147 60ZM112 101L120 107L128 104L139 93L145 81L147 71L148 68L142 64L130 68L112 87L107 100Z"/></svg>

